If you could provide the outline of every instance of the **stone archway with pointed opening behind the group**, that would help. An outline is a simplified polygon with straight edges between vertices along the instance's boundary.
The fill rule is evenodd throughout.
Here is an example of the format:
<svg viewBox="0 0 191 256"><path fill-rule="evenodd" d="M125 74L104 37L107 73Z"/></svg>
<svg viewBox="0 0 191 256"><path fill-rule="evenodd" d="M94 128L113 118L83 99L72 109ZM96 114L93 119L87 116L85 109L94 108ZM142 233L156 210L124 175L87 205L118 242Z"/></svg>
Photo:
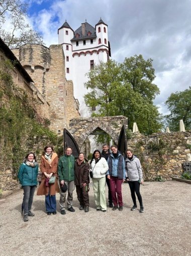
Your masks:
<svg viewBox="0 0 191 256"><path fill-rule="evenodd" d="M81 149L85 139L90 134L93 134L93 131L97 128L108 133L114 142L118 144L122 127L128 127L127 121L128 118L124 116L75 118L70 120L69 132L75 139L79 149Z"/></svg>

